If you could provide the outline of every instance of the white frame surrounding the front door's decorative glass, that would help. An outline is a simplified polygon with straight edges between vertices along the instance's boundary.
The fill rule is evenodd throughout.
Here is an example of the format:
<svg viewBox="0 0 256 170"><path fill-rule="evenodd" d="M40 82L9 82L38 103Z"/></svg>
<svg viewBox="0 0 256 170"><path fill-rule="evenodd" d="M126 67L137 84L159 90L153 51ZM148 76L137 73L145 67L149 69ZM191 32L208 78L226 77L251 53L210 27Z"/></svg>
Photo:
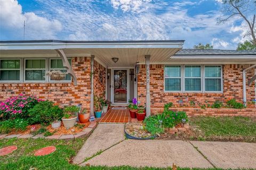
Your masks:
<svg viewBox="0 0 256 170"><path fill-rule="evenodd" d="M115 103L114 102L114 71L115 70L126 70L126 103ZM111 69L111 102L113 105L128 105L129 102L129 97L130 97L130 81L129 81L129 69L125 68L112 68Z"/></svg>

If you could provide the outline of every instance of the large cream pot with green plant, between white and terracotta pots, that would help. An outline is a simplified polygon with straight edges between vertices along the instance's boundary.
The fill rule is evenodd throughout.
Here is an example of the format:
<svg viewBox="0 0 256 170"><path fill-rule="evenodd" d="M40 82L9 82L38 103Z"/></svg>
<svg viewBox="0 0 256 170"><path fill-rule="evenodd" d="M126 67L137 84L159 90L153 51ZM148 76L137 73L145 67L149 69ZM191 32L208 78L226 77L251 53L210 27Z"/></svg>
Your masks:
<svg viewBox="0 0 256 170"><path fill-rule="evenodd" d="M64 112L65 112L64 117L62 117L61 119L63 122L63 125L65 126L65 128L72 128L76 123L76 119L77 119L76 113L79 112L79 107L68 106L68 107L65 107Z"/></svg>

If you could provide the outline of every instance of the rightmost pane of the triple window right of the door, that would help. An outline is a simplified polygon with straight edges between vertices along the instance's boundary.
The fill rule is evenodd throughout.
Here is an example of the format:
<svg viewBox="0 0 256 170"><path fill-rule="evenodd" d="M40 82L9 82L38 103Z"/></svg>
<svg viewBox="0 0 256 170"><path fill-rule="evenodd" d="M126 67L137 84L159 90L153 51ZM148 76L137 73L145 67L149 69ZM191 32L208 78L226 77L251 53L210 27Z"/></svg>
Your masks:
<svg viewBox="0 0 256 170"><path fill-rule="evenodd" d="M205 65L205 91L221 91L221 66Z"/></svg>

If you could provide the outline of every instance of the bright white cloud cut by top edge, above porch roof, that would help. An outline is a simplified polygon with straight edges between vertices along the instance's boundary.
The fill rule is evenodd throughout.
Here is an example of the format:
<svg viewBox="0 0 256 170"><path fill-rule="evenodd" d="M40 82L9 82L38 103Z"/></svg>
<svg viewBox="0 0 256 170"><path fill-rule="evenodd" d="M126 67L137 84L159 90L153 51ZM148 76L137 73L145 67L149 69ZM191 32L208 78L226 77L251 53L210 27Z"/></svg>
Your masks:
<svg viewBox="0 0 256 170"><path fill-rule="evenodd" d="M110 2L114 8L121 8L124 12L141 12L147 8L151 0L111 0Z"/></svg>

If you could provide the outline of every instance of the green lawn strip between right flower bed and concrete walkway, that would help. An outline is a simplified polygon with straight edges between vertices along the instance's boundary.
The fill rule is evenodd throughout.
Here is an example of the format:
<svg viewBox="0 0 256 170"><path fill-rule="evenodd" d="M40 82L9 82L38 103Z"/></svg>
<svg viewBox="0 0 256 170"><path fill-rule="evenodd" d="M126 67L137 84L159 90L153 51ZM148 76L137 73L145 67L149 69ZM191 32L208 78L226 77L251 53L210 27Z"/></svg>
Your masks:
<svg viewBox="0 0 256 170"><path fill-rule="evenodd" d="M248 117L193 117L190 124L206 140L256 142L256 120Z"/></svg>

